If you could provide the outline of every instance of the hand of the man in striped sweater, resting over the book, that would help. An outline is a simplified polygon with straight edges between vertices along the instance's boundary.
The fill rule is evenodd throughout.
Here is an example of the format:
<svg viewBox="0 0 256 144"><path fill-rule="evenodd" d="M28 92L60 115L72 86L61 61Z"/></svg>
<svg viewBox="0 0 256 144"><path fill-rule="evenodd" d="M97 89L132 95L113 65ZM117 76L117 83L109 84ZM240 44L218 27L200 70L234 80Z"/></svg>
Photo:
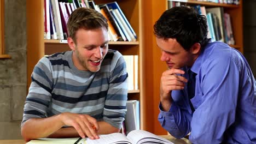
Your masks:
<svg viewBox="0 0 256 144"><path fill-rule="evenodd" d="M60 114L63 125L74 127L81 137L88 136L89 139L99 139L97 131L99 125L97 120L89 115L65 112Z"/></svg>

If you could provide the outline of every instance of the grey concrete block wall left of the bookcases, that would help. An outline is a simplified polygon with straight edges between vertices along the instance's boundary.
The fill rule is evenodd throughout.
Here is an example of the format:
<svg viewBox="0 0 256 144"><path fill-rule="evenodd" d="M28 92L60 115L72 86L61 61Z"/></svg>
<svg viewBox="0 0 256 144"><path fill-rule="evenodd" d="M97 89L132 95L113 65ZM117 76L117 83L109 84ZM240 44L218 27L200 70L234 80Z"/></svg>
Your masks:
<svg viewBox="0 0 256 144"><path fill-rule="evenodd" d="M21 139L27 85L26 0L4 1L5 53L11 59L0 59L0 139Z"/></svg>

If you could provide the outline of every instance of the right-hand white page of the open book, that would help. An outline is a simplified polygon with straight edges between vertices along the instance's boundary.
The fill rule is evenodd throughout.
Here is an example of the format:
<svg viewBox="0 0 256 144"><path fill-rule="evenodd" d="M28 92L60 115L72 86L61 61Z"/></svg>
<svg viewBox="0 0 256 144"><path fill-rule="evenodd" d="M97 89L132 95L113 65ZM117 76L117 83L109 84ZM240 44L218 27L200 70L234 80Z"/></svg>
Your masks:
<svg viewBox="0 0 256 144"><path fill-rule="evenodd" d="M131 140L132 143L139 144L139 143L172 143L160 136L155 134L149 133L148 131L144 130L132 130L128 135L127 138ZM173 144L173 143L172 143Z"/></svg>

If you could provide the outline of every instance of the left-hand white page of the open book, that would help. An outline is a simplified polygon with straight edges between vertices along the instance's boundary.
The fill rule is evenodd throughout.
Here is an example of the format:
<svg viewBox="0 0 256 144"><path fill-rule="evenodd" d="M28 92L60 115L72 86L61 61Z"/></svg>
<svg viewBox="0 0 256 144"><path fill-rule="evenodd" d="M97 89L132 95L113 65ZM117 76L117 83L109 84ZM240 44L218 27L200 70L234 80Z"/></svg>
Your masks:
<svg viewBox="0 0 256 144"><path fill-rule="evenodd" d="M121 133L113 133L108 135L99 135L100 139L90 140L86 138L86 144L114 144L114 143L127 143L132 144L127 137ZM85 142L84 142L85 144Z"/></svg>

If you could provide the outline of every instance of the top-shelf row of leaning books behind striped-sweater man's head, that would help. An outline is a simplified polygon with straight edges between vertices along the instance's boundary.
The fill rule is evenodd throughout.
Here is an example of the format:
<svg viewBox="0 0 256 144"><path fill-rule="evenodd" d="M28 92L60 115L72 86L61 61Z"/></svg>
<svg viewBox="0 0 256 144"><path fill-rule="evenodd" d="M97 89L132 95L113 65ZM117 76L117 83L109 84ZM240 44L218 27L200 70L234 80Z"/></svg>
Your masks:
<svg viewBox="0 0 256 144"><path fill-rule="evenodd" d="M44 0L44 39L67 39L68 17L80 7L95 9L106 17L109 40L137 40L135 31L117 2L97 5L88 0Z"/></svg>

